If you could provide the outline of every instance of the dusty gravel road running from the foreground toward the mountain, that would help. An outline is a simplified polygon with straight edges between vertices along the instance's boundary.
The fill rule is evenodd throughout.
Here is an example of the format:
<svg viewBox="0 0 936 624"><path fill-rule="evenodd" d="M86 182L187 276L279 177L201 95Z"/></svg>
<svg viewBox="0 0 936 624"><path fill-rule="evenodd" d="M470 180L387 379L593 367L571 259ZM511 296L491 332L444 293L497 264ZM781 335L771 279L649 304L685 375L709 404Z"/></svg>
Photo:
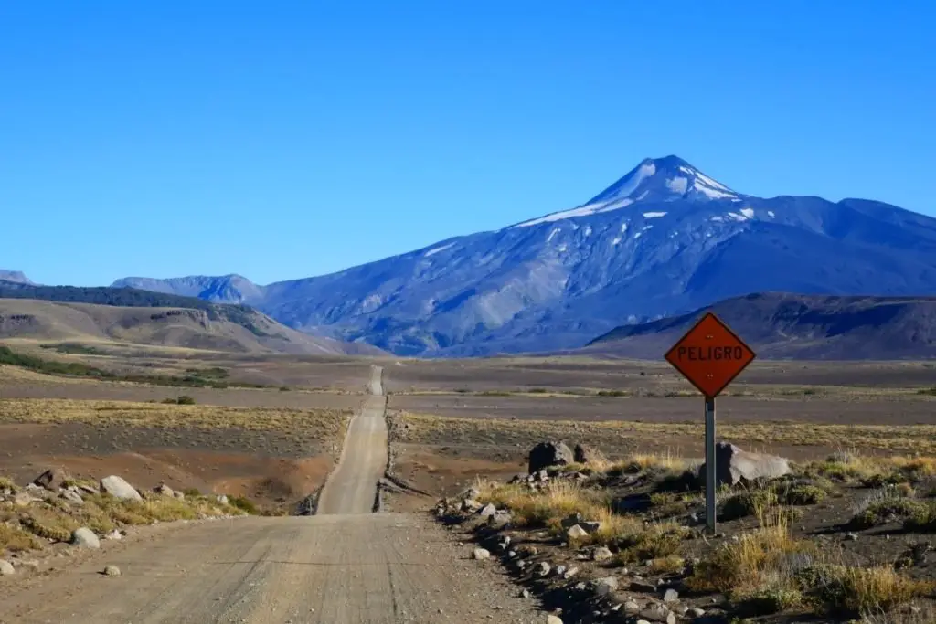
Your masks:
<svg viewBox="0 0 936 624"><path fill-rule="evenodd" d="M373 495L380 459L374 440L386 436L383 425L371 422L383 422L374 374L378 396L349 429L350 446L323 497L327 515L157 527L64 572L24 582L5 577L0 623L545 621L495 563L469 560L470 544L453 544L428 516L358 513ZM363 483L349 476L358 461ZM101 575L108 564L122 575Z"/></svg>

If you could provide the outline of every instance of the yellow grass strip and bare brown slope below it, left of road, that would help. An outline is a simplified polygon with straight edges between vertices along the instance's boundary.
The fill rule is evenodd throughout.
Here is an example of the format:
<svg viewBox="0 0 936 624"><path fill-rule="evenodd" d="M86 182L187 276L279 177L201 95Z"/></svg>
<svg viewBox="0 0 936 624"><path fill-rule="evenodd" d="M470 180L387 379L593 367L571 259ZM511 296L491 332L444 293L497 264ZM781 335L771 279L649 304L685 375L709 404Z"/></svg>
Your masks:
<svg viewBox="0 0 936 624"><path fill-rule="evenodd" d="M351 410L129 401L0 399L0 473L21 483L51 467L247 496L267 507L316 491Z"/></svg>

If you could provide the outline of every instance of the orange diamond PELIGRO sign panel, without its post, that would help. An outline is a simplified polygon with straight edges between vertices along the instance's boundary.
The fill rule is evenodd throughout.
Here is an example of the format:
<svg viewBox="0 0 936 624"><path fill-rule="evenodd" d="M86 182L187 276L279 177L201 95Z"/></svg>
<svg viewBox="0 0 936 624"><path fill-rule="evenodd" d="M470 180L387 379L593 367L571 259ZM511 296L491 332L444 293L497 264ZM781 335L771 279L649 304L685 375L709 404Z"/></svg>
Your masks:
<svg viewBox="0 0 936 624"><path fill-rule="evenodd" d="M699 392L714 399L755 356L735 332L708 312L665 357Z"/></svg>

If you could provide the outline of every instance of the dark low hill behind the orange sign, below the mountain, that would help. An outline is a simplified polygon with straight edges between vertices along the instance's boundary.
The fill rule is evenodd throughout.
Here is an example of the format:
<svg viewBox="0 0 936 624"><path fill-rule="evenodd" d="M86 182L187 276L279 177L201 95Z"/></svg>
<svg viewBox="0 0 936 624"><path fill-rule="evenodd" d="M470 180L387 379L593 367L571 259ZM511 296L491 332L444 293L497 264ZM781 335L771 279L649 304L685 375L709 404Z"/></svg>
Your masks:
<svg viewBox="0 0 936 624"><path fill-rule="evenodd" d="M786 293L734 297L689 314L616 327L573 353L659 359L708 311L715 312L761 358L936 358L936 297Z"/></svg>

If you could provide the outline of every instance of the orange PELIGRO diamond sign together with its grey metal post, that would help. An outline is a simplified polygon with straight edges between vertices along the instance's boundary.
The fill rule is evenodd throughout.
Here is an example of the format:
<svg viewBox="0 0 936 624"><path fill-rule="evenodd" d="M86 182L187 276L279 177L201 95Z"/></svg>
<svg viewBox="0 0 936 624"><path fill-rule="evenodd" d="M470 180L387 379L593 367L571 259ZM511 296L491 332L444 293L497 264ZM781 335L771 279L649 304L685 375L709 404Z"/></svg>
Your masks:
<svg viewBox="0 0 936 624"><path fill-rule="evenodd" d="M705 398L705 520L715 532L715 397L753 362L751 347L707 312L666 352L665 358Z"/></svg>

